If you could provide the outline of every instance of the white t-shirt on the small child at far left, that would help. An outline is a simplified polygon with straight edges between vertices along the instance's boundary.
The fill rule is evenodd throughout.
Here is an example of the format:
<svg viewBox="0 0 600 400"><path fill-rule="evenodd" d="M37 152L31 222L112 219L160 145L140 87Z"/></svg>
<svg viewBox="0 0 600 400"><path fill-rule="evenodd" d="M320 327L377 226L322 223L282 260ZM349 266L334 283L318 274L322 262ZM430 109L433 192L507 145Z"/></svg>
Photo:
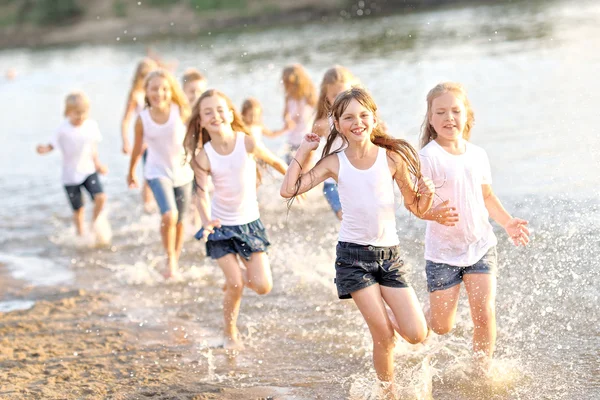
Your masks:
<svg viewBox="0 0 600 400"><path fill-rule="evenodd" d="M72 125L68 119L60 124L50 145L62 153L64 185L80 185L96 172L93 155L96 144L101 140L98 124L91 119L79 126Z"/></svg>

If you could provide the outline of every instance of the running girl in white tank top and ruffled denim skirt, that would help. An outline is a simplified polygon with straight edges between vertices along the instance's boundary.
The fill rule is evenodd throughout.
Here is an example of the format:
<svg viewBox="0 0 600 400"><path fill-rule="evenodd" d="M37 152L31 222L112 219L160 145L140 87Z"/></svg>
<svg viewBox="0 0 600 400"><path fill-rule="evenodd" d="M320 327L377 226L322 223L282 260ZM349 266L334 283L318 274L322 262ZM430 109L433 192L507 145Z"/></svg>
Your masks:
<svg viewBox="0 0 600 400"><path fill-rule="evenodd" d="M224 346L241 349L236 323L244 286L267 294L273 285L266 254L269 239L256 198L254 159L282 174L286 165L257 144L231 100L217 90L208 90L198 99L185 144L194 168L202 219L196 238L207 239L206 254L217 260L225 274ZM214 184L210 210L206 190L209 175Z"/></svg>

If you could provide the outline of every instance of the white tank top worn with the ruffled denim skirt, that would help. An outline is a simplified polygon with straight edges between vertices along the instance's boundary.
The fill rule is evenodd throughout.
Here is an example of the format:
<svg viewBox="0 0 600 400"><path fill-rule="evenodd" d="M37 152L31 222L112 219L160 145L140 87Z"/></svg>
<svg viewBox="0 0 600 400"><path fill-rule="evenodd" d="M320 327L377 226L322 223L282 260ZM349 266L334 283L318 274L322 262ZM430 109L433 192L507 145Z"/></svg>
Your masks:
<svg viewBox="0 0 600 400"><path fill-rule="evenodd" d="M246 151L243 132L237 132L235 147L227 155L218 154L210 142L204 151L210 162L215 190L211 217L222 225L244 225L260 218L256 198L256 161Z"/></svg>

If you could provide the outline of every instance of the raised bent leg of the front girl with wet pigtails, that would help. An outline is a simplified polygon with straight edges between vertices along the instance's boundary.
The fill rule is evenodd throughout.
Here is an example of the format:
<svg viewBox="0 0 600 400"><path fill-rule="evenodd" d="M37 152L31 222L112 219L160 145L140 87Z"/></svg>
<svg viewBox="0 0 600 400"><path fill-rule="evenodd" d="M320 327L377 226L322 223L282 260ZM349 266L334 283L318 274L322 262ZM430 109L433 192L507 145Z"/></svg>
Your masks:
<svg viewBox="0 0 600 400"><path fill-rule="evenodd" d="M398 321L400 336L411 344L421 343L427 336L427 323L413 288L381 286L381 295Z"/></svg>

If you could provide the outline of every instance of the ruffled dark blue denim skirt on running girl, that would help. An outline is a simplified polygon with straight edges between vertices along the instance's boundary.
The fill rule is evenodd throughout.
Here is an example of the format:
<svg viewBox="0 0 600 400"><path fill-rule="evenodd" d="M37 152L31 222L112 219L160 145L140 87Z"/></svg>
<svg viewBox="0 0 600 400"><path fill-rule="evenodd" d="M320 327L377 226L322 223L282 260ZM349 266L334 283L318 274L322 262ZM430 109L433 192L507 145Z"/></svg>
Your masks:
<svg viewBox="0 0 600 400"><path fill-rule="evenodd" d="M196 239L202 239L202 229ZM249 260L252 253L266 252L271 245L260 218L244 225L221 225L208 235L206 255L217 260L227 254L239 254Z"/></svg>

